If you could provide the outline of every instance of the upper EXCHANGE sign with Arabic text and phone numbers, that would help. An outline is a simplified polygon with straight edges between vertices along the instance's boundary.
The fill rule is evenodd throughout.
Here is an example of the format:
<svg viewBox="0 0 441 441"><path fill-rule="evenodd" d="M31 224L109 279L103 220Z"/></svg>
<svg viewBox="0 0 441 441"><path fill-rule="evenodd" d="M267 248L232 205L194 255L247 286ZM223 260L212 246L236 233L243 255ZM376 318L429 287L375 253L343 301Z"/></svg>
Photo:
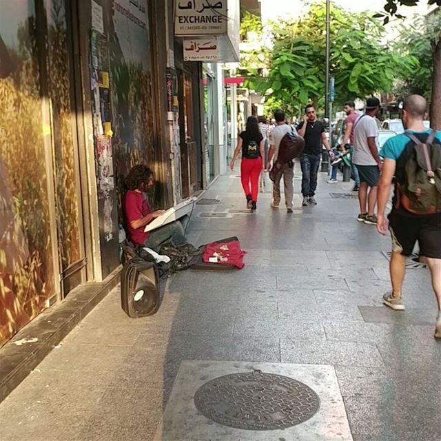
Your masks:
<svg viewBox="0 0 441 441"><path fill-rule="evenodd" d="M227 0L177 0L176 35L227 34Z"/></svg>

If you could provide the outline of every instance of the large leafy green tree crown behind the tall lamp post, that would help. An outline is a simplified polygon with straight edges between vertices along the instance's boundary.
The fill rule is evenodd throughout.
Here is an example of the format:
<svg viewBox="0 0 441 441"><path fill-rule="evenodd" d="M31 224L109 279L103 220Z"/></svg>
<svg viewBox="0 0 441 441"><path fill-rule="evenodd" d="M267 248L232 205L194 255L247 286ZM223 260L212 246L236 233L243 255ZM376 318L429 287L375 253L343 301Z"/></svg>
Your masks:
<svg viewBox="0 0 441 441"><path fill-rule="evenodd" d="M268 103L294 112L313 101L321 107L325 94L325 3L314 3L296 20L272 24L271 63L267 77L250 81L252 88L270 90ZM416 65L381 45L384 28L367 13L331 8L330 72L336 81L336 103L389 92L397 70Z"/></svg>

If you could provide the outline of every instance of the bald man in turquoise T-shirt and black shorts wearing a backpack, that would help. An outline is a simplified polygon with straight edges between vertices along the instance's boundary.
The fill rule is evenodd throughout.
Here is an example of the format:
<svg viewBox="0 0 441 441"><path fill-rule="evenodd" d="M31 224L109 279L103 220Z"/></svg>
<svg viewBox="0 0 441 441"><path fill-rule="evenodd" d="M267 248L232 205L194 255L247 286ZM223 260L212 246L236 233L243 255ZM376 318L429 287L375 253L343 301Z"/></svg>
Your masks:
<svg viewBox="0 0 441 441"><path fill-rule="evenodd" d="M441 338L441 132L424 127L426 108L427 102L422 96L409 96L402 110L406 131L389 139L380 152L384 165L378 188L377 229L381 234L387 232L384 209L395 176L395 194L389 214L392 291L384 294L383 303L392 309L404 309L401 295L406 258L418 240L438 301L435 338Z"/></svg>

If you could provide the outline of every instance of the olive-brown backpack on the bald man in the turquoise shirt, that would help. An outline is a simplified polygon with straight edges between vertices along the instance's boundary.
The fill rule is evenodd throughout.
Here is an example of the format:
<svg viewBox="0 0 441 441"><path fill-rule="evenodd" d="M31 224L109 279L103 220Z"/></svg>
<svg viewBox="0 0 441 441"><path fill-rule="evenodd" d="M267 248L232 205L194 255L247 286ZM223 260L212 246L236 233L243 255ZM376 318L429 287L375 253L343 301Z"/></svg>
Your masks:
<svg viewBox="0 0 441 441"><path fill-rule="evenodd" d="M422 141L405 133L411 142L398 158L397 202L413 214L441 213L441 144L435 134L422 135Z"/></svg>

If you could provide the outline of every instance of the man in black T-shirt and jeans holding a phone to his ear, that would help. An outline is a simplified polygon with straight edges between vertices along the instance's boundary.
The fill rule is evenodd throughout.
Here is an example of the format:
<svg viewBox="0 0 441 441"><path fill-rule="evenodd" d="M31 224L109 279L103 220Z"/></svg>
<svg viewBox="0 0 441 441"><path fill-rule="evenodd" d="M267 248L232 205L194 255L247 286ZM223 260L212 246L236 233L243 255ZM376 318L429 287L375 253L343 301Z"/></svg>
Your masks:
<svg viewBox="0 0 441 441"><path fill-rule="evenodd" d="M332 154L325 134L325 125L317 120L314 105L308 104L305 109L305 119L297 127L298 134L305 139L305 150L300 156L302 167L302 206L317 205L316 189L318 167L322 157L322 145Z"/></svg>

